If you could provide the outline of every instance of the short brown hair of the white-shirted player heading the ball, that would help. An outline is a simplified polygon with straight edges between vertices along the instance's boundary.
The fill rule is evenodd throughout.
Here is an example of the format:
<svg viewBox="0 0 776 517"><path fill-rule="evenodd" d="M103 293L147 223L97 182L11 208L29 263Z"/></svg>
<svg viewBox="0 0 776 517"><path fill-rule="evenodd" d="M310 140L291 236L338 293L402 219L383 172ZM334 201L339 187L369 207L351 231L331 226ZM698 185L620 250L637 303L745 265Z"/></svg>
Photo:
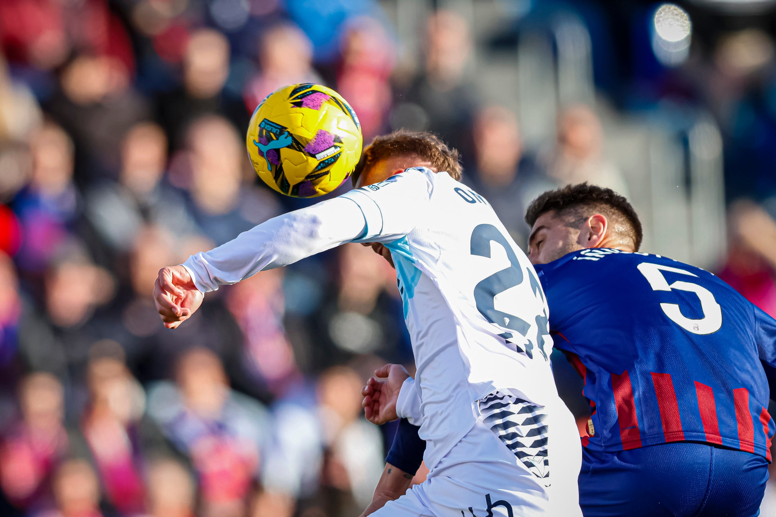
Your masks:
<svg viewBox="0 0 776 517"><path fill-rule="evenodd" d="M397 155L411 155L426 160L437 170L445 171L454 180L461 181L461 164L458 151L433 133L399 129L393 133L375 136L364 149L359 164L351 176L353 186L358 183L365 169L373 167L380 160Z"/></svg>

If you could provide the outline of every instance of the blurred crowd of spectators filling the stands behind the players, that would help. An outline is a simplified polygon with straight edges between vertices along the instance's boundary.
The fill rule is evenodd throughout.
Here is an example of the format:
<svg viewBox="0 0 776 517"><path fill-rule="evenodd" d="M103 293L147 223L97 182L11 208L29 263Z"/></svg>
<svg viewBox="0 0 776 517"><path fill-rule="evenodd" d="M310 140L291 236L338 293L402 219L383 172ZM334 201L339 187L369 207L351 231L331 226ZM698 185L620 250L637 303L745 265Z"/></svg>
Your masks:
<svg viewBox="0 0 776 517"><path fill-rule="evenodd" d="M0 514L359 515L394 432L366 422L360 388L412 367L390 266L341 246L208 295L174 332L150 294L160 267L317 201L276 195L244 150L285 84L336 88L365 143L438 133L521 246L542 191L628 194L593 107L564 106L528 152L467 72L469 21L422 27L407 71L372 0L0 2ZM776 203L750 197L719 274L776 315Z"/></svg>

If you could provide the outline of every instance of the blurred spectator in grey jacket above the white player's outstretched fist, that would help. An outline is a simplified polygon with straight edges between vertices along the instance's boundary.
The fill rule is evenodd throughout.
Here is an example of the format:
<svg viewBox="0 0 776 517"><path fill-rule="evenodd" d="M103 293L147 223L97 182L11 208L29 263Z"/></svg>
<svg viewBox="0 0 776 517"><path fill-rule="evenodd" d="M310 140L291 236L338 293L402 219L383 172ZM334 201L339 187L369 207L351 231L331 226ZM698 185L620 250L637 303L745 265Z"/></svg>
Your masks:
<svg viewBox="0 0 776 517"><path fill-rule="evenodd" d="M104 181L88 191L87 217L113 250L129 250L144 224L178 237L196 233L181 193L162 181L165 167L164 131L151 122L140 122L124 136L119 182Z"/></svg>

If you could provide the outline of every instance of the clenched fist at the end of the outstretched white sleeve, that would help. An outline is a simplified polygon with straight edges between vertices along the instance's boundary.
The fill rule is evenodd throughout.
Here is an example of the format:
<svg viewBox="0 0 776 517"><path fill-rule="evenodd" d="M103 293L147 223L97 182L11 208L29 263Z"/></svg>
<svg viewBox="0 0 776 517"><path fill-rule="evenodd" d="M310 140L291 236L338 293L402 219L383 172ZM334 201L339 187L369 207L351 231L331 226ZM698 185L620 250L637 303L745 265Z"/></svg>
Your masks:
<svg viewBox="0 0 776 517"><path fill-rule="evenodd" d="M154 283L154 302L165 327L175 329L202 305L202 291L196 288L183 266L162 267Z"/></svg>

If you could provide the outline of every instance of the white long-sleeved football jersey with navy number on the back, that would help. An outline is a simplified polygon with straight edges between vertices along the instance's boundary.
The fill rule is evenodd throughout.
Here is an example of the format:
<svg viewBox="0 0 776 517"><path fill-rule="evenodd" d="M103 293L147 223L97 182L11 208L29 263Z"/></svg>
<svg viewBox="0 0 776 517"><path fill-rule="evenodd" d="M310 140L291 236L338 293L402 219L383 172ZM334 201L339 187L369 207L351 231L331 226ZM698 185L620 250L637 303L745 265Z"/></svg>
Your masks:
<svg viewBox="0 0 776 517"><path fill-rule="evenodd" d="M428 468L472 429L476 401L491 392L557 401L535 271L488 202L444 172L407 169L270 219L184 265L206 292L345 242L391 250L417 367L397 412L421 425Z"/></svg>

